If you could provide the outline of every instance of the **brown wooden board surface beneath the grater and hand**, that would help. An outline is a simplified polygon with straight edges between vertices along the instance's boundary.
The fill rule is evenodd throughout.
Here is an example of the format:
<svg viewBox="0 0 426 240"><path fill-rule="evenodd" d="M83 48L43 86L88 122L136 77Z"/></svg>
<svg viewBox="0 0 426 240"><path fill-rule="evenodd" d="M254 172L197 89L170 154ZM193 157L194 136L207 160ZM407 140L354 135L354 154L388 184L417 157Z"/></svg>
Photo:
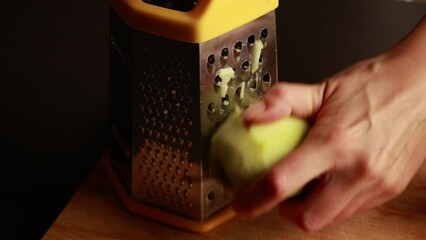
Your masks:
<svg viewBox="0 0 426 240"><path fill-rule="evenodd" d="M256 219L232 219L205 234L164 226L130 213L98 165L43 239L426 239L426 164L401 196L332 228L307 233L273 210Z"/></svg>

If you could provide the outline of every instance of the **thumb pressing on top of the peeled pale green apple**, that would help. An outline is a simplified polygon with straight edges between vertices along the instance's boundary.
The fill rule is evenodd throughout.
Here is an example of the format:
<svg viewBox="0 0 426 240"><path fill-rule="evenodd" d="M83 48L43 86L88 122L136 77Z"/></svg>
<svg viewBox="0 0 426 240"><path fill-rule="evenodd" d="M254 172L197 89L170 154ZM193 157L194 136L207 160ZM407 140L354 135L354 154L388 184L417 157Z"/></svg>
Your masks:
<svg viewBox="0 0 426 240"><path fill-rule="evenodd" d="M243 112L246 124L271 122L294 115L311 118L317 114L324 95L325 84L276 84L263 98Z"/></svg>

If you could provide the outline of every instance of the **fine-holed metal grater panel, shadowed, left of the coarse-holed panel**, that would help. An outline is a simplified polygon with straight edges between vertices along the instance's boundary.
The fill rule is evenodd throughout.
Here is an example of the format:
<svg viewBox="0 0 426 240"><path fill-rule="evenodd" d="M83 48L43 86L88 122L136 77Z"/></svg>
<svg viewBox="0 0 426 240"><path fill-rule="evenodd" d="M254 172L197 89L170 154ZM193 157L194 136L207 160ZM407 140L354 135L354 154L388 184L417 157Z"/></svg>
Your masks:
<svg viewBox="0 0 426 240"><path fill-rule="evenodd" d="M201 216L198 44L133 32L132 197Z"/></svg>

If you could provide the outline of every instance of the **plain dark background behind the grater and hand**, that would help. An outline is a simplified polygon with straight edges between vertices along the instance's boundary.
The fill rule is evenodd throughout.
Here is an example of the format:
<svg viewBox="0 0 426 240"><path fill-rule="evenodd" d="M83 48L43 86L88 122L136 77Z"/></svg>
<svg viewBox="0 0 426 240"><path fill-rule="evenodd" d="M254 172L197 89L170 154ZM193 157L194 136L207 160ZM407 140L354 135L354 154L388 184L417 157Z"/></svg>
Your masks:
<svg viewBox="0 0 426 240"><path fill-rule="evenodd" d="M39 239L106 147L108 6L3 2L0 239ZM388 49L425 13L392 0L281 1L280 78L320 81Z"/></svg>

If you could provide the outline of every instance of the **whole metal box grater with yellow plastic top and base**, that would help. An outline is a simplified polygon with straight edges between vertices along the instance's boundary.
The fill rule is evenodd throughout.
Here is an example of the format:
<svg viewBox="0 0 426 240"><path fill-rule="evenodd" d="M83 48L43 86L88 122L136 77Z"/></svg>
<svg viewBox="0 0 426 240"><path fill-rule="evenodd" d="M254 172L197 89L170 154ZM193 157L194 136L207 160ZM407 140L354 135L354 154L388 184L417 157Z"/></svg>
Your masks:
<svg viewBox="0 0 426 240"><path fill-rule="evenodd" d="M132 211L207 231L232 216L221 215L232 192L209 169L209 139L235 106L277 82L278 0L110 6L115 185Z"/></svg>

